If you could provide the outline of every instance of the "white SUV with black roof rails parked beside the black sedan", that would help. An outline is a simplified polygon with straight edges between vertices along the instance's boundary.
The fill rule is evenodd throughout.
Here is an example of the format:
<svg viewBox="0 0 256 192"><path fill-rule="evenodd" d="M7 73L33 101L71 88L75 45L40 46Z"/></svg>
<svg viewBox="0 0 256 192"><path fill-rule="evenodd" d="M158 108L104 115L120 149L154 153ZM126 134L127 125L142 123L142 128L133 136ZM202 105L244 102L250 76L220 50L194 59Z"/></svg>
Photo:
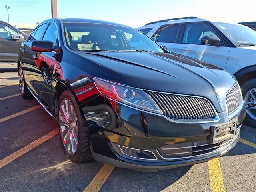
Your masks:
<svg viewBox="0 0 256 192"><path fill-rule="evenodd" d="M151 22L138 30L168 51L212 63L238 80L246 118L256 127L256 32L240 24L211 22L197 17Z"/></svg>

